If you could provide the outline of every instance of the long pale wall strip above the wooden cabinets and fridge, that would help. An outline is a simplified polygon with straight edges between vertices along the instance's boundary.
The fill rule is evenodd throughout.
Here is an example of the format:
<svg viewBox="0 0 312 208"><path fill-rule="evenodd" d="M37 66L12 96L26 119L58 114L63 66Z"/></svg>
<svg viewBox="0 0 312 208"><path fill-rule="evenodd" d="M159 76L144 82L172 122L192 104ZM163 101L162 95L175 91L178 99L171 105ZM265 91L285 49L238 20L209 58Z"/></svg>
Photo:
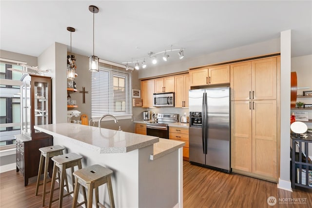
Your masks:
<svg viewBox="0 0 312 208"><path fill-rule="evenodd" d="M272 39L251 45L245 45L237 48L232 48L224 51L215 52L212 54L203 55L195 58L187 58L187 49L184 51L185 57L167 65L156 65L155 67L147 67L144 70L139 70L139 78L152 76L166 75L176 72L188 71L189 68L203 66L208 64L220 63L246 57L254 57L265 54L279 53L280 39Z"/></svg>

